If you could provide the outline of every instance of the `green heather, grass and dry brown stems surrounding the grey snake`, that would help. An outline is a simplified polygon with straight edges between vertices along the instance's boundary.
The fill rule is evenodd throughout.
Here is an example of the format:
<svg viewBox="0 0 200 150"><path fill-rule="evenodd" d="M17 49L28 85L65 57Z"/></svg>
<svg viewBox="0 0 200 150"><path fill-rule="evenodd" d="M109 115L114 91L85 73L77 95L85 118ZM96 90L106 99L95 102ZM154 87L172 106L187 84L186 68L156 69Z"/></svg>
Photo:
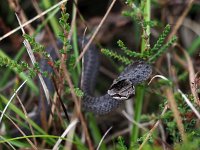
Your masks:
<svg viewBox="0 0 200 150"><path fill-rule="evenodd" d="M199 0L1 0L0 149L199 149L199 15ZM85 36L102 52L96 95L131 61L153 66L107 115L80 109Z"/></svg>

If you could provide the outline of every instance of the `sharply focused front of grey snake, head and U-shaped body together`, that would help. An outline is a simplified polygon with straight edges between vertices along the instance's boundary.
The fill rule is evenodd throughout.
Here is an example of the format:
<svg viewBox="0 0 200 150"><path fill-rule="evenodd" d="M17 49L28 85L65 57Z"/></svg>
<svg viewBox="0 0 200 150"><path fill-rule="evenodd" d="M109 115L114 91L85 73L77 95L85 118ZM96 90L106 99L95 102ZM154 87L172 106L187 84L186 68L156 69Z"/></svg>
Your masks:
<svg viewBox="0 0 200 150"><path fill-rule="evenodd" d="M135 94L135 85L147 80L152 73L151 65L144 61L136 61L127 66L124 71L113 81L107 94L94 97L97 72L99 70L99 51L91 45L84 56L84 72L82 77L82 89L85 93L82 101L84 110L95 114L107 114L124 100Z"/></svg>

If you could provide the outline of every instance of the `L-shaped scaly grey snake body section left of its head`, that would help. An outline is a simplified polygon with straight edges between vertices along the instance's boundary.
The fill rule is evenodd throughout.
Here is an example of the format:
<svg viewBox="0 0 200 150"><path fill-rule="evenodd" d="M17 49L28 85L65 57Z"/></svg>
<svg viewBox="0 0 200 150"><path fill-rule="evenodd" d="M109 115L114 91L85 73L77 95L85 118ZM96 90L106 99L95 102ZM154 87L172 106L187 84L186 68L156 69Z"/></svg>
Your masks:
<svg viewBox="0 0 200 150"><path fill-rule="evenodd" d="M100 97L94 97L96 78L100 66L99 50L91 44L84 55L82 90L84 97L82 105L85 111L94 112L95 114L106 114L118 107L121 103L116 101L108 94Z"/></svg>

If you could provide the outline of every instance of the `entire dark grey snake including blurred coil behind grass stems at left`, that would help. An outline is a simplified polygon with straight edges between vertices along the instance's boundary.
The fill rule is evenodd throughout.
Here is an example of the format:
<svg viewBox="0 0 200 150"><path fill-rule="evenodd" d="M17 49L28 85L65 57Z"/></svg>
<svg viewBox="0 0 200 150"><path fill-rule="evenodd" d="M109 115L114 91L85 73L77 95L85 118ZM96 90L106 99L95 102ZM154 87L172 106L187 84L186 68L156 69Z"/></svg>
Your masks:
<svg viewBox="0 0 200 150"><path fill-rule="evenodd" d="M86 40L84 41L86 42ZM57 41L58 47L62 47L62 43ZM46 51L51 55L53 60L57 60L58 56L52 46L46 48ZM95 96L94 90L97 81L97 76L100 67L100 51L94 44L91 44L86 51L83 58L83 73L81 77L81 89L84 92L82 98L82 106L84 111L93 112L96 115L106 115L117 109L126 100L129 100L135 95L135 86L146 81L152 74L152 66L141 60L133 61L118 75L113 83L108 88L107 93L102 96ZM47 71L49 74L53 72L51 66L48 65L47 60L40 61L40 68L42 71ZM50 93L53 93L54 86L50 78L44 77ZM31 119L38 125L41 125L40 114L42 109L42 100L39 98L38 112ZM46 115L50 114L50 107L47 102ZM29 134L30 131L23 129L25 133ZM11 131L11 135L20 135L18 130Z"/></svg>

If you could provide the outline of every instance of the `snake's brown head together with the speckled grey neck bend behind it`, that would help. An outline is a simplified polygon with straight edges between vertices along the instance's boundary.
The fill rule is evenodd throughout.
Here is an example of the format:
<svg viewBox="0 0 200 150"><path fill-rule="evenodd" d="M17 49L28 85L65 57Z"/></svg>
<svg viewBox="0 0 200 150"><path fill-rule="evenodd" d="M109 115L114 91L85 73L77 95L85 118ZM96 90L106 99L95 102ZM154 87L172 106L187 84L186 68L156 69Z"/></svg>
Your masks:
<svg viewBox="0 0 200 150"><path fill-rule="evenodd" d="M144 61L136 61L127 66L108 90L108 95L116 100L127 100L135 95L134 85L147 80L152 67Z"/></svg>

